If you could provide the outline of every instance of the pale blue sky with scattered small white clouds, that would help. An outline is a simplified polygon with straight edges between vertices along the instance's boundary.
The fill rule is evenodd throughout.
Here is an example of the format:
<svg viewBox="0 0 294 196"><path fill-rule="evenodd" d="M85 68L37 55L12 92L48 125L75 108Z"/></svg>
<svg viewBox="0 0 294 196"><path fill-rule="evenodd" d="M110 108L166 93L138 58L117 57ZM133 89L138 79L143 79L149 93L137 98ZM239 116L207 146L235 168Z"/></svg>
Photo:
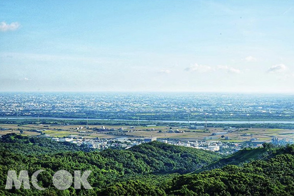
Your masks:
<svg viewBox="0 0 294 196"><path fill-rule="evenodd" d="M290 0L6 0L0 13L0 91L294 93Z"/></svg>

